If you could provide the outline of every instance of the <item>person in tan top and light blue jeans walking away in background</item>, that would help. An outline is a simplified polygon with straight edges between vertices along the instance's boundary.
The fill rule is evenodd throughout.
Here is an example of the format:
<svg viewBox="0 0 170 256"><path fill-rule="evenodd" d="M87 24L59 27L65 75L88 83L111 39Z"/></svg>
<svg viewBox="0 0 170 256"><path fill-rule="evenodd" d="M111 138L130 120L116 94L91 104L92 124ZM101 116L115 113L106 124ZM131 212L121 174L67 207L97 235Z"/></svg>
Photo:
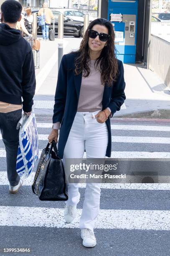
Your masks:
<svg viewBox="0 0 170 256"><path fill-rule="evenodd" d="M46 17L46 24L41 26L42 27L42 33L43 33L43 40L49 40L48 38L48 31L49 31L49 25L51 24L51 19L54 18L54 15L50 8L47 7L47 4L43 4L43 8L41 8L38 12L38 16L45 15Z"/></svg>

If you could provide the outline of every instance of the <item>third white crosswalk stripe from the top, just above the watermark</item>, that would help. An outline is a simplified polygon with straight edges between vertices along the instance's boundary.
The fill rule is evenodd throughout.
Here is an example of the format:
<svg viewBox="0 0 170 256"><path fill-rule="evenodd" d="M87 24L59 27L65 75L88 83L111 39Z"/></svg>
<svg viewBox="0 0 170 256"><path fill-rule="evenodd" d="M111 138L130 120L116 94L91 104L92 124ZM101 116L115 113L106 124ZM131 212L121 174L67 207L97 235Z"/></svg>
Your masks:
<svg viewBox="0 0 170 256"><path fill-rule="evenodd" d="M42 150L38 151L39 157ZM0 148L0 157L6 157L5 148ZM86 153L84 156L86 157ZM107 158L107 157L106 157ZM146 151L112 151L111 158L166 158L170 159L170 152L146 152Z"/></svg>

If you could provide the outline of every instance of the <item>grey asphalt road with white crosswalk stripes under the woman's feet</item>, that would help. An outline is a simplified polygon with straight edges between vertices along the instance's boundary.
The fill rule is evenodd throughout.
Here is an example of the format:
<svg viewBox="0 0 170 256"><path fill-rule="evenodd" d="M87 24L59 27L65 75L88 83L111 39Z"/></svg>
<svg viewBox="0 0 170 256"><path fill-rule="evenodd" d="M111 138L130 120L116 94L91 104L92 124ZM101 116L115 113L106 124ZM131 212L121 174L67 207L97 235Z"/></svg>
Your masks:
<svg viewBox="0 0 170 256"><path fill-rule="evenodd" d="M50 124L44 118L38 123L41 126L39 134L50 132ZM146 131L142 130L144 126ZM158 152L158 156L161 152L169 154L169 145L161 141L147 144L131 142L133 137L169 139L169 129L169 123L112 122L112 136L129 137L129 141L124 143L112 143L113 154L120 151L124 158L127 151L133 157L137 152L148 155ZM46 140L40 141L40 150L46 143ZM39 201L31 191L32 178L24 182L18 194L8 193L6 160L2 152L4 146L0 141L0 255L170 255L169 184L133 184L133 187L122 184L120 188L111 188L108 184L101 188L101 213L94 230L97 245L85 248L79 230L84 186L79 189L78 217L71 225L66 224L62 217L65 203ZM3 248L30 248L31 252L3 253Z"/></svg>

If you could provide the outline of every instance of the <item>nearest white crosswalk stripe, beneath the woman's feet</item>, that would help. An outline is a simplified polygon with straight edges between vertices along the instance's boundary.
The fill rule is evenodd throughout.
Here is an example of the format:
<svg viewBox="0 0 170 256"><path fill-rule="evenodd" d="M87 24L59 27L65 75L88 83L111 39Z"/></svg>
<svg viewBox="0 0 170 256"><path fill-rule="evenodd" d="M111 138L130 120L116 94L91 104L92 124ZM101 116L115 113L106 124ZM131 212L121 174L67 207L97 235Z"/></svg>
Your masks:
<svg viewBox="0 0 170 256"><path fill-rule="evenodd" d="M81 209L73 223L66 223L62 208L0 206L0 226L79 228ZM170 230L168 210L100 210L95 228Z"/></svg>

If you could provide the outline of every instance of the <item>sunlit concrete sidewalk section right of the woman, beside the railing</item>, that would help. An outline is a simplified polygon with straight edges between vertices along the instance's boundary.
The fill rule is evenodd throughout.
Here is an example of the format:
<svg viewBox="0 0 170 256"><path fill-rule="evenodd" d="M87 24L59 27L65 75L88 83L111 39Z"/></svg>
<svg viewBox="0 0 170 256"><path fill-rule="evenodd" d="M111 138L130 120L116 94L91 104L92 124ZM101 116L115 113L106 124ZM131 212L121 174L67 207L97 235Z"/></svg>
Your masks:
<svg viewBox="0 0 170 256"><path fill-rule="evenodd" d="M143 64L124 64L126 110L116 116L160 117L170 115L170 88Z"/></svg>

